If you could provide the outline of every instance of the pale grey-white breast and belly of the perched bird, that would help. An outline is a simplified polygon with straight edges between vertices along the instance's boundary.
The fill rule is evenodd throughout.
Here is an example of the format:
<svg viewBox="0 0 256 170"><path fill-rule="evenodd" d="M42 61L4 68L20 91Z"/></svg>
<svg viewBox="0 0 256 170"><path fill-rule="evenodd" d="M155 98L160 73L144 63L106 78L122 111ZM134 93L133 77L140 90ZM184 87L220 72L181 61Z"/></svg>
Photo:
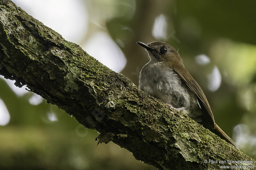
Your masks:
<svg viewBox="0 0 256 170"><path fill-rule="evenodd" d="M139 89L175 108L187 108L184 110L187 111L187 114L190 114L191 110L194 110L193 108L197 107L198 104L195 94L173 69L164 67L161 63L150 64L149 62L142 68Z"/></svg>

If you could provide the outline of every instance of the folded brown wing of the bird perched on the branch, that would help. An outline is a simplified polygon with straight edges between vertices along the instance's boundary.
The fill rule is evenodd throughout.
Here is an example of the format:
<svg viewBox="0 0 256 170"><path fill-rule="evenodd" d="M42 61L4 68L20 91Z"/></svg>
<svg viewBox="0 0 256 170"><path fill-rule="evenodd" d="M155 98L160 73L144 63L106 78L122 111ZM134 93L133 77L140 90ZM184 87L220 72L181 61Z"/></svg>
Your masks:
<svg viewBox="0 0 256 170"><path fill-rule="evenodd" d="M215 121L214 121L214 117L212 114L212 110L210 108L210 105L209 105L209 103L206 99L206 96L204 95L204 92L201 89L201 87L197 84L197 82L194 80L194 78L188 73L186 68L183 67L183 68L180 68L179 70L174 69L174 71L187 84L189 89L191 89L196 94L196 96L201 101L201 103L203 103L204 108L206 109L206 111L208 113L208 116L211 117L210 120L209 120L210 117L207 119L208 120L207 123L212 129L215 129ZM204 115L204 116L206 116L206 115Z"/></svg>

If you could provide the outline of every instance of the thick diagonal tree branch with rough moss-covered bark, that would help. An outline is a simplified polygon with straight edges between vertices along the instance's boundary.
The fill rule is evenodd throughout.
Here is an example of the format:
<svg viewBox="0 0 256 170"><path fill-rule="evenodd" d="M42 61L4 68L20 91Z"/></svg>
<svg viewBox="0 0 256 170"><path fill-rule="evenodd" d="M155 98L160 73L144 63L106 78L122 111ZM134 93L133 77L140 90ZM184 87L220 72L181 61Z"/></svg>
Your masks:
<svg viewBox="0 0 256 170"><path fill-rule="evenodd" d="M99 143L113 141L156 168L256 166L255 160L188 116L168 109L10 0L0 0L0 74L100 132Z"/></svg>

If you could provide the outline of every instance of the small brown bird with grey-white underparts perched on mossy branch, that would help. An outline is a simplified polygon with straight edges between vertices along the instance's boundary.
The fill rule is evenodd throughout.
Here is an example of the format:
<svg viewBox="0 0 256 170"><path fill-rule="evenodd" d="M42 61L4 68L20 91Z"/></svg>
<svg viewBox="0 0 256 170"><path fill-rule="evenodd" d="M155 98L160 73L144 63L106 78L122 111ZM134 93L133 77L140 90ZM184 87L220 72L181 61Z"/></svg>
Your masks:
<svg viewBox="0 0 256 170"><path fill-rule="evenodd" d="M162 100L172 109L187 114L238 148L236 143L215 124L204 92L184 67L180 54L164 42L137 43L146 49L150 58L140 71L139 89Z"/></svg>

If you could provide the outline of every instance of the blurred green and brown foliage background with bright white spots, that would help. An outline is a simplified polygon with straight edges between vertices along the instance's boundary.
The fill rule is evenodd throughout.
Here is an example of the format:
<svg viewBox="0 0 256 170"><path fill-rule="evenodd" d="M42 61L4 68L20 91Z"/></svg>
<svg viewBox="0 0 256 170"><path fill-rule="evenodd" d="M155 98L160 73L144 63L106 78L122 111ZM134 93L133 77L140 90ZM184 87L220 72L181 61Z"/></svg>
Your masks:
<svg viewBox="0 0 256 170"><path fill-rule="evenodd" d="M179 49L216 123L256 159L256 1L15 0L30 15L138 85L136 41ZM155 169L40 96L0 78L0 169ZM9 120L10 118L10 120Z"/></svg>

